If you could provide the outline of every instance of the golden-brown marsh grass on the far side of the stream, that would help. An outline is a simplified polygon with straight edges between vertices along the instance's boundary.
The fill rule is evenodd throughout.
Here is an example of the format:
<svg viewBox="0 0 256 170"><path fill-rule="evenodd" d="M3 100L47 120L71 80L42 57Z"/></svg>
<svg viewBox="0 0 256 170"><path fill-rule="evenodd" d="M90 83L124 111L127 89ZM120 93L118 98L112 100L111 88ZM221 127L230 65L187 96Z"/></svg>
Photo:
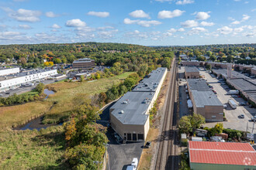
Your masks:
<svg viewBox="0 0 256 170"><path fill-rule="evenodd" d="M57 93L50 95L47 100L1 107L0 129L24 124L40 114L47 115L45 122L59 121L61 117L67 117L71 110L87 101L93 94L108 90L109 87L112 87L112 84L119 83L129 75L130 73L123 73L119 76L95 80L90 83L87 81L82 83L60 82L47 85L57 90Z"/></svg>

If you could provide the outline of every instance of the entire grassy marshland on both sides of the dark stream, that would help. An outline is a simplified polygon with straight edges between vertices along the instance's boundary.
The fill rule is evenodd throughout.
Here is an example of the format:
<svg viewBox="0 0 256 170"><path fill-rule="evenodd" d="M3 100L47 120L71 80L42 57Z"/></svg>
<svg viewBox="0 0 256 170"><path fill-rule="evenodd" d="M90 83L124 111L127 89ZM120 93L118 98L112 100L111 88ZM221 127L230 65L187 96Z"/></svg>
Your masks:
<svg viewBox="0 0 256 170"><path fill-rule="evenodd" d="M12 126L44 113L47 121L57 121L95 93L108 90L129 75L123 73L92 82L53 83L48 87L57 93L47 100L0 107L0 169L67 169L61 157L65 150L62 126L40 131L12 131Z"/></svg>

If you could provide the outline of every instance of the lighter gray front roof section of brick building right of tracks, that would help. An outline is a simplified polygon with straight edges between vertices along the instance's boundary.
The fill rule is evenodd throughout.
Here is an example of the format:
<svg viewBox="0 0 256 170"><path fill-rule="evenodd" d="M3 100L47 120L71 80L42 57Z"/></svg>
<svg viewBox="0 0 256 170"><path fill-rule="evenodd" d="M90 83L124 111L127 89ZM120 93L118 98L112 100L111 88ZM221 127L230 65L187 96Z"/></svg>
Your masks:
<svg viewBox="0 0 256 170"><path fill-rule="evenodd" d="M194 98L196 107L223 106L213 91L192 90L192 96Z"/></svg>

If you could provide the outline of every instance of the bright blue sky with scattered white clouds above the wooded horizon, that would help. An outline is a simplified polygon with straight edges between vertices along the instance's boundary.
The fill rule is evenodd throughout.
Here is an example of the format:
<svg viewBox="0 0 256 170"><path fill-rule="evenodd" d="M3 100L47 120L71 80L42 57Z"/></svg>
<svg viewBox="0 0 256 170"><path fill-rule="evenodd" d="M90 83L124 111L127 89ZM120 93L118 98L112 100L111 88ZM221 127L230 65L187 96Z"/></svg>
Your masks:
<svg viewBox="0 0 256 170"><path fill-rule="evenodd" d="M0 44L256 42L256 0L1 0Z"/></svg>

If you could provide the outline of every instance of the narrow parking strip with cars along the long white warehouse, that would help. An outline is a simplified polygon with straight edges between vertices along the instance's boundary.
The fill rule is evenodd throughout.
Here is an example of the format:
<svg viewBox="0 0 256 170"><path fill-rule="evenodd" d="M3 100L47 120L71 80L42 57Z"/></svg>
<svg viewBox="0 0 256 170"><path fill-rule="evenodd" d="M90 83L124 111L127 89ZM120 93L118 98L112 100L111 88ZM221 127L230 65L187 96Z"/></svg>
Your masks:
<svg viewBox="0 0 256 170"><path fill-rule="evenodd" d="M59 80L43 80L42 83L50 84L50 83L54 83L56 81L61 81L61 80L64 80L64 79L67 79L67 77L63 77ZM14 93L16 93L16 94L26 93L28 91L33 90L36 87L37 84L38 83L34 83L34 85L32 87L16 87L14 90L12 90L12 89L6 90L5 92L0 93L0 97L9 97L10 95L12 95Z"/></svg>

